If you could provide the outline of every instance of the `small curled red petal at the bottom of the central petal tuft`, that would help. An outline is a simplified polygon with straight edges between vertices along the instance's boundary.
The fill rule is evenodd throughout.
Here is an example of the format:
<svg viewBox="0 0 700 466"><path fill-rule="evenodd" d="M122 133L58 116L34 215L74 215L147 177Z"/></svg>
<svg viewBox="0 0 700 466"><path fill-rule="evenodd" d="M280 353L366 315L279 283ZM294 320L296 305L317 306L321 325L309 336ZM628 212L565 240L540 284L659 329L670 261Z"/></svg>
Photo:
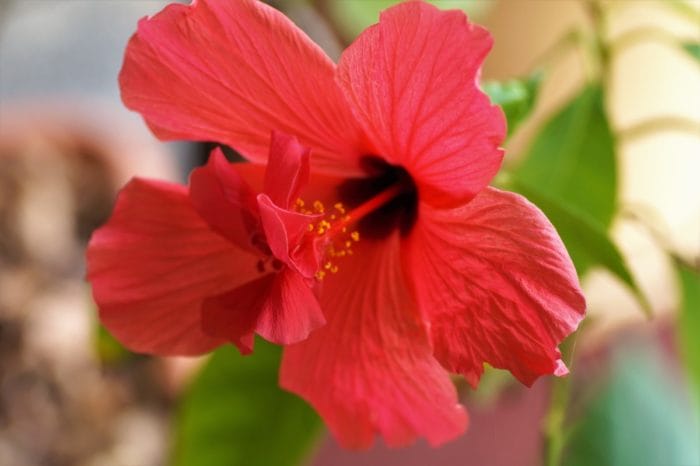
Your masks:
<svg viewBox="0 0 700 466"><path fill-rule="evenodd" d="M309 284L288 267L208 300L203 315L207 333L232 341L244 354L252 351L253 331L288 345L325 323Z"/></svg>

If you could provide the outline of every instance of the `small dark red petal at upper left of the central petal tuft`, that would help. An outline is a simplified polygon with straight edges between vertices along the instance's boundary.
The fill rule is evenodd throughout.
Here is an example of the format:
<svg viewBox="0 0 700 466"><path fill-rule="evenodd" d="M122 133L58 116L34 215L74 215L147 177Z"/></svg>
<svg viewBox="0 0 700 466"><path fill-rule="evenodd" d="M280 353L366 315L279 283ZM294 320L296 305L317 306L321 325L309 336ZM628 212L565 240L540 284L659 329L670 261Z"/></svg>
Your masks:
<svg viewBox="0 0 700 466"><path fill-rule="evenodd" d="M190 199L212 229L243 249L260 252L251 242L260 229L255 193L221 149L214 149L207 164L192 171Z"/></svg>

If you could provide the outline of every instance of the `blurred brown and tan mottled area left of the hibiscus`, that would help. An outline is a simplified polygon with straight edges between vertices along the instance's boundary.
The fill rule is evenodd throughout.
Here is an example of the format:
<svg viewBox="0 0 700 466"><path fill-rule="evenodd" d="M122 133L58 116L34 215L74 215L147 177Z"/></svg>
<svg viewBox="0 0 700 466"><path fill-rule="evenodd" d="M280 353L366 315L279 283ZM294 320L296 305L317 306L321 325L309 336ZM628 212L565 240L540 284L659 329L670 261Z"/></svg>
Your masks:
<svg viewBox="0 0 700 466"><path fill-rule="evenodd" d="M164 464L171 397L162 362L101 361L83 276L85 245L126 178L172 178L173 166L99 111L8 114L12 121L0 122L0 463Z"/></svg>

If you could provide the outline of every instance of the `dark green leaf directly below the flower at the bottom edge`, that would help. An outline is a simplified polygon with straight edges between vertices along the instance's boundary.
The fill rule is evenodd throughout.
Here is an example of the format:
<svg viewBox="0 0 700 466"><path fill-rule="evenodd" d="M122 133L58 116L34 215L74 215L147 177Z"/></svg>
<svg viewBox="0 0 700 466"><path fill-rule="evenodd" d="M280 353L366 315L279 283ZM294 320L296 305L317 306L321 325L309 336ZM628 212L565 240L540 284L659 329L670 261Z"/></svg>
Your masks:
<svg viewBox="0 0 700 466"><path fill-rule="evenodd" d="M177 419L176 466L295 466L310 453L320 419L278 387L280 348L255 345L246 357L218 349L190 387Z"/></svg>

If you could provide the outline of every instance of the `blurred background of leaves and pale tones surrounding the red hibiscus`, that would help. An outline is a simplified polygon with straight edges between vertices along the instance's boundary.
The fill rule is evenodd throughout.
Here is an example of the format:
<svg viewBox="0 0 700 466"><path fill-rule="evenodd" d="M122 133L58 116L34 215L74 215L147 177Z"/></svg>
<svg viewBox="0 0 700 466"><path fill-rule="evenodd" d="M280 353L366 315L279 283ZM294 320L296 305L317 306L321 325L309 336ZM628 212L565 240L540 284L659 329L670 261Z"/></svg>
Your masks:
<svg viewBox="0 0 700 466"><path fill-rule="evenodd" d="M184 181L207 153L119 99L128 38L167 3L0 0L0 466L700 466L700 2L432 2L494 36L496 183L552 219L588 316L570 377L456 380L464 436L361 453L276 388L276 348L150 358L96 319L84 248L120 186ZM337 59L395 2L269 3Z"/></svg>

